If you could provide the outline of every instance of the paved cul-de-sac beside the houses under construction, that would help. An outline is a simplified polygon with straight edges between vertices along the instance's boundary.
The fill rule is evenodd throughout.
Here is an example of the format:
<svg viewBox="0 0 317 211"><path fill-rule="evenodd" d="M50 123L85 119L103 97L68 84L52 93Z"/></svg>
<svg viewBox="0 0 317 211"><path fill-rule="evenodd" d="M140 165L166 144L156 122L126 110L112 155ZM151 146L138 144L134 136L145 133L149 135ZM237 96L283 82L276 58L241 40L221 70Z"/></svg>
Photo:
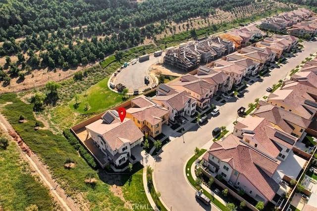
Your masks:
<svg viewBox="0 0 317 211"><path fill-rule="evenodd" d="M163 52L164 54L164 52ZM147 86L144 84L144 77L148 76L147 70L148 68L163 58L163 55L159 57L154 57L153 54L150 55L150 60L139 62L137 61L136 64L130 64L126 68L122 69L121 72L116 76L114 80L114 84L123 83L126 87L132 91L134 89L143 90L144 88L149 87L153 80L149 77L150 84Z"/></svg>

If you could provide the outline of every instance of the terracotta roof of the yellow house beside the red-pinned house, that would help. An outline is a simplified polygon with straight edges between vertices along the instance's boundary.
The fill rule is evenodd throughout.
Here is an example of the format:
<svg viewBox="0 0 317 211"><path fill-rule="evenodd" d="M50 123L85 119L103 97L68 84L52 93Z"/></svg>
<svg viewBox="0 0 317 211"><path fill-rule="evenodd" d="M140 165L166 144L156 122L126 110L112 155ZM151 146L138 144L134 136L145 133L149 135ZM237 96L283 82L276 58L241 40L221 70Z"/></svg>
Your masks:
<svg viewBox="0 0 317 211"><path fill-rule="evenodd" d="M168 110L163 107L151 106L144 108L129 108L126 110L140 122L147 121L151 125L156 125L162 121L161 117L168 114Z"/></svg>

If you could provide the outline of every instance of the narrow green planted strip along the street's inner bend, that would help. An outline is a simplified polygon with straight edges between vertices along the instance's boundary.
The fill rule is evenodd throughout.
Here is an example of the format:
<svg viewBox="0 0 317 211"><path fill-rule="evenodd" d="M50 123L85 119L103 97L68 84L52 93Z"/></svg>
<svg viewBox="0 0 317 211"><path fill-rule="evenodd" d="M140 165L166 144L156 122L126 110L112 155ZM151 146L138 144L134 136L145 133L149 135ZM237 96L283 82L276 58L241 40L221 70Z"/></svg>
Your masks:
<svg viewBox="0 0 317 211"><path fill-rule="evenodd" d="M201 149L199 153L197 153L196 155L194 155L193 157L191 157L188 162L186 163L186 167L185 167L185 172L186 172L186 178L189 181L189 183L196 189L196 190L200 190L202 189L201 186L197 186L195 184L195 180L192 176L191 173L191 167L194 164L194 162L197 160L197 158L199 158L200 156L202 156L207 150L206 149ZM221 202L219 202L216 198L212 197L210 192L208 190L203 189L204 194L210 198L211 202L216 205L220 210L225 211L226 210L226 206L223 205Z"/></svg>

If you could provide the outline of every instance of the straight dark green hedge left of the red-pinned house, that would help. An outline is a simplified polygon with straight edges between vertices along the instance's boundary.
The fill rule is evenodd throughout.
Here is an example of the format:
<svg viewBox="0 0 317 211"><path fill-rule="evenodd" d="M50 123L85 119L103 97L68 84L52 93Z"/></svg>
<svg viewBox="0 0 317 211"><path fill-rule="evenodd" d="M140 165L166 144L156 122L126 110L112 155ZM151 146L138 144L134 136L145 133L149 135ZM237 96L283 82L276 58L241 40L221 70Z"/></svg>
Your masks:
<svg viewBox="0 0 317 211"><path fill-rule="evenodd" d="M80 156L85 159L87 164L92 168L96 168L97 164L95 162L94 157L79 143L77 138L68 130L63 130L63 135L69 141L69 143L79 152Z"/></svg>

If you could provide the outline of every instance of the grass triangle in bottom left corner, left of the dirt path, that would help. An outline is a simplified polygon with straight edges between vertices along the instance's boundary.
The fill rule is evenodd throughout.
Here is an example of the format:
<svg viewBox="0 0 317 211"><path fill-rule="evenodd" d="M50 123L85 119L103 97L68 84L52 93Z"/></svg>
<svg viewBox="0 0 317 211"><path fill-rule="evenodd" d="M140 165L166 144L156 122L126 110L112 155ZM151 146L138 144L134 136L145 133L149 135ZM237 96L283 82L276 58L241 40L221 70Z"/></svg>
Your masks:
<svg viewBox="0 0 317 211"><path fill-rule="evenodd" d="M0 178L0 205L5 211L22 211L31 204L43 211L57 206L53 205L49 189L31 175L14 142L6 150L0 148Z"/></svg>

